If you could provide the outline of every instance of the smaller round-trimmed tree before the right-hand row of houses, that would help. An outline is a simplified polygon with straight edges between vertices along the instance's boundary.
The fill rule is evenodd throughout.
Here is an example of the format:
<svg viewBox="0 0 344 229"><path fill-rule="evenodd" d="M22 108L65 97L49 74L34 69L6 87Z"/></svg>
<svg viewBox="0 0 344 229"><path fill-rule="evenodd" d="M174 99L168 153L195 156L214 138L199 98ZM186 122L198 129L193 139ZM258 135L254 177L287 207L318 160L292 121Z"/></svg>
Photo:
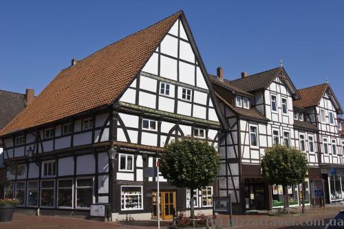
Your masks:
<svg viewBox="0 0 344 229"><path fill-rule="evenodd" d="M288 204L288 186L302 184L308 173L305 153L297 148L275 144L265 150L261 160L261 175L270 185L283 186L284 208Z"/></svg>

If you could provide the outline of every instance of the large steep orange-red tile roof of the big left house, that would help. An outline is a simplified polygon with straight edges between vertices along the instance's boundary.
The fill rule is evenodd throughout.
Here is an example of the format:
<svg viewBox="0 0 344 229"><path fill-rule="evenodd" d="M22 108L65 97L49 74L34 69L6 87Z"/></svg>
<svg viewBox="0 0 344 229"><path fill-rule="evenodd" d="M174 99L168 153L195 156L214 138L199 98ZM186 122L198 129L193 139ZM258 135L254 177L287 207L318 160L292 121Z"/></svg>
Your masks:
<svg viewBox="0 0 344 229"><path fill-rule="evenodd" d="M110 105L138 74L182 11L63 69L0 135Z"/></svg>

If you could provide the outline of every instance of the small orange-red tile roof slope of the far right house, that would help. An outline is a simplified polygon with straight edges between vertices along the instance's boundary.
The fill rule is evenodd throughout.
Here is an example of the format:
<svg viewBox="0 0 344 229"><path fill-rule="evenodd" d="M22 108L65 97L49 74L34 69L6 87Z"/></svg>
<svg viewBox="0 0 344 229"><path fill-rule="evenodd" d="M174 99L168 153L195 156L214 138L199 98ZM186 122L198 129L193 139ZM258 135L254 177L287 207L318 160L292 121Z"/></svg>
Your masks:
<svg viewBox="0 0 344 229"><path fill-rule="evenodd" d="M296 107L312 107L319 104L321 97L328 87L327 83L299 89L301 99L294 100L292 103Z"/></svg>

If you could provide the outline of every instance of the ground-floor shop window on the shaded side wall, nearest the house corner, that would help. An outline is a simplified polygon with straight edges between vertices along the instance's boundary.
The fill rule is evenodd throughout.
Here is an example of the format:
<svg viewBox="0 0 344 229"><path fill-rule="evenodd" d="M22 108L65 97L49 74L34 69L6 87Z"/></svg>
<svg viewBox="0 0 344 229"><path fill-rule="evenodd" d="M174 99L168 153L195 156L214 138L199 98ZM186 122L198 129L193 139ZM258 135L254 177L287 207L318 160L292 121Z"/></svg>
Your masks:
<svg viewBox="0 0 344 229"><path fill-rule="evenodd" d="M89 208L93 204L93 177L76 178L76 208Z"/></svg>

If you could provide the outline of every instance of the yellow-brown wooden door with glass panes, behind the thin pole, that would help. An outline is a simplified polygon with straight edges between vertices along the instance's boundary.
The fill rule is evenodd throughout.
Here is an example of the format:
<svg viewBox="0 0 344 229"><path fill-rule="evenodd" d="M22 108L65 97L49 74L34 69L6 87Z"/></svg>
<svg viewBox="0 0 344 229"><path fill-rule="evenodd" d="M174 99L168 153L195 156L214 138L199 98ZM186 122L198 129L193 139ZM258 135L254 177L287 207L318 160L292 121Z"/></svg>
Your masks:
<svg viewBox="0 0 344 229"><path fill-rule="evenodd" d="M153 218L157 218L157 193L153 192ZM160 192L160 217L161 219L173 219L175 212L175 192Z"/></svg>

